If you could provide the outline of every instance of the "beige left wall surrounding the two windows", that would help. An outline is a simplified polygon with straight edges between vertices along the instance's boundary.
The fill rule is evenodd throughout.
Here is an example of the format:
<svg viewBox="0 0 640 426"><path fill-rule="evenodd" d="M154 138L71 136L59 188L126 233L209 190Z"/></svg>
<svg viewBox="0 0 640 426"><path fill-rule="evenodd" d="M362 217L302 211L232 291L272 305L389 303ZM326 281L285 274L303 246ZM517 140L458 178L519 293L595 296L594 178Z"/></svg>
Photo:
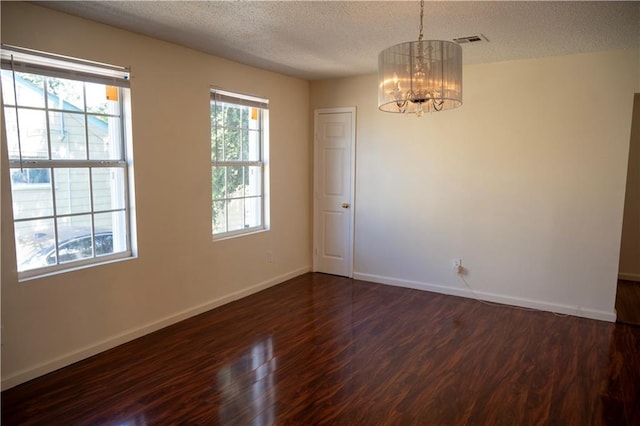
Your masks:
<svg viewBox="0 0 640 426"><path fill-rule="evenodd" d="M1 8L3 43L131 66L139 249L18 283L2 153L5 388L310 270L308 82L26 3ZM270 100L268 232L211 240L210 86Z"/></svg>

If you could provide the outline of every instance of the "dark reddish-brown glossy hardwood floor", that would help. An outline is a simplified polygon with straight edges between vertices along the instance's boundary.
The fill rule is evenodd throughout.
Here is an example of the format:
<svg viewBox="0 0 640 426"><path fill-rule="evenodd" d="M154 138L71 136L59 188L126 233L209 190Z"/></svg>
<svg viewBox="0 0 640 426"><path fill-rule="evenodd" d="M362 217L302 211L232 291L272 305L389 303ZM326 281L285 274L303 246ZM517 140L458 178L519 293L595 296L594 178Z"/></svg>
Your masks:
<svg viewBox="0 0 640 426"><path fill-rule="evenodd" d="M306 274L9 389L2 424L639 425L640 327Z"/></svg>

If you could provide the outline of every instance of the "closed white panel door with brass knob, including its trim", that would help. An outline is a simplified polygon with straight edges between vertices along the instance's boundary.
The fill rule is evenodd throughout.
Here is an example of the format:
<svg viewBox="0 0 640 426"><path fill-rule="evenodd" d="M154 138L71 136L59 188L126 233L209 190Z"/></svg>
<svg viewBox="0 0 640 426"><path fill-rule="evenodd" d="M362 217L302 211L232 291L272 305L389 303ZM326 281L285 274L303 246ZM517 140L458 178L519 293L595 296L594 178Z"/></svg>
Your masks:
<svg viewBox="0 0 640 426"><path fill-rule="evenodd" d="M353 275L355 108L315 112L313 270Z"/></svg>

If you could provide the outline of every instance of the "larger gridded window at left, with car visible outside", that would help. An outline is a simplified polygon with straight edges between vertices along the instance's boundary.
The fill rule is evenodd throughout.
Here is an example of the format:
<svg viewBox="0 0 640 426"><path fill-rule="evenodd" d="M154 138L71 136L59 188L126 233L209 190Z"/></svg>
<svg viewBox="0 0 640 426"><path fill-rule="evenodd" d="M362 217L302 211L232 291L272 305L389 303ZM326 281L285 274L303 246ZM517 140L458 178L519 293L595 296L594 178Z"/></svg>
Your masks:
<svg viewBox="0 0 640 426"><path fill-rule="evenodd" d="M127 70L4 45L1 58L19 276L131 256Z"/></svg>

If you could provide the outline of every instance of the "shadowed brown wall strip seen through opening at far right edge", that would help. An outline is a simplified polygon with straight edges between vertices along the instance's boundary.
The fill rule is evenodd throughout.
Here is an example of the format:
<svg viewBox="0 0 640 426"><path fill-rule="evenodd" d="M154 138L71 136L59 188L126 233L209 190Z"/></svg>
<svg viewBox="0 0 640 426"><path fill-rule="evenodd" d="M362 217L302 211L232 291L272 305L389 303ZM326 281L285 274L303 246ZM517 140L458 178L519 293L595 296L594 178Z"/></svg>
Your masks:
<svg viewBox="0 0 640 426"><path fill-rule="evenodd" d="M636 93L620 247L620 278L640 281L640 93Z"/></svg>

